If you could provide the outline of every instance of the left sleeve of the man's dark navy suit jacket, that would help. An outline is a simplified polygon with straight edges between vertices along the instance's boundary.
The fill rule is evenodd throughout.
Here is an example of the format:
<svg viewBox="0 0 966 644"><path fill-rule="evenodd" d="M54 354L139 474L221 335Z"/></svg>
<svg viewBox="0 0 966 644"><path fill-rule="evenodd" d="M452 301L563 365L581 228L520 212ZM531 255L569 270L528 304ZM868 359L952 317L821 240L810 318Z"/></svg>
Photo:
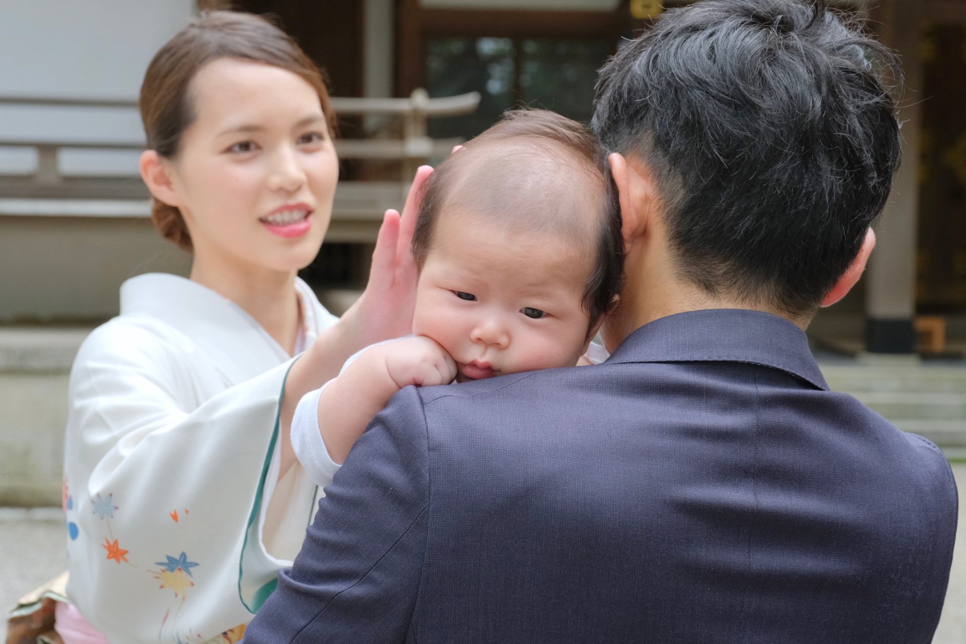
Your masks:
<svg viewBox="0 0 966 644"><path fill-rule="evenodd" d="M411 641L429 530L429 434L415 387L396 393L319 502L291 571L247 644Z"/></svg>

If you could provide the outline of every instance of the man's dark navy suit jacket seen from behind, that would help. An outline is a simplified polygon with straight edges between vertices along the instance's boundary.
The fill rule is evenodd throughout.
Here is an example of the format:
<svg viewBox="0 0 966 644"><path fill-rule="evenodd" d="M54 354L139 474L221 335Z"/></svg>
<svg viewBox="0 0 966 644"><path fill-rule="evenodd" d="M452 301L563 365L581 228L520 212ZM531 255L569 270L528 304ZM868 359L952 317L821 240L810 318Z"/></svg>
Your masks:
<svg viewBox="0 0 966 644"><path fill-rule="evenodd" d="M400 391L245 642L926 644L943 454L750 311L594 367Z"/></svg>

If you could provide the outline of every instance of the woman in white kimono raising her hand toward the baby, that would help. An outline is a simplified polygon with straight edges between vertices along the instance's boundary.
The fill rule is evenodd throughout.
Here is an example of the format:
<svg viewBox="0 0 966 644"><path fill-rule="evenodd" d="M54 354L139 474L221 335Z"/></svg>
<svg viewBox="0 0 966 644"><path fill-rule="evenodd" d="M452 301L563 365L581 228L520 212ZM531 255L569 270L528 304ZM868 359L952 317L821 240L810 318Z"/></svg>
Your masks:
<svg viewBox="0 0 966 644"><path fill-rule="evenodd" d="M415 205L386 213L369 287L337 320L296 276L338 177L326 88L298 46L259 17L207 14L157 53L140 107L153 219L193 261L190 279L128 280L76 357L58 631L237 641L319 494L289 441L299 398L410 330Z"/></svg>

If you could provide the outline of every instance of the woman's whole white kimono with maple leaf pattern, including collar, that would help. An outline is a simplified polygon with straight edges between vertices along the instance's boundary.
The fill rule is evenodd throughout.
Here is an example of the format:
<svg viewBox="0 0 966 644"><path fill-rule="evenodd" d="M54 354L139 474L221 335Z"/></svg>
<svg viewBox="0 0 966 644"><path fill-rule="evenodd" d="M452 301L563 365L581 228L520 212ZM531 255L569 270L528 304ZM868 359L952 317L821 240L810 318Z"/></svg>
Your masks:
<svg viewBox="0 0 966 644"><path fill-rule="evenodd" d="M296 288L310 346L337 319ZM128 280L121 315L84 342L67 427L68 593L111 642L237 641L291 566L319 493L298 466L278 480L292 362L234 302L163 274Z"/></svg>

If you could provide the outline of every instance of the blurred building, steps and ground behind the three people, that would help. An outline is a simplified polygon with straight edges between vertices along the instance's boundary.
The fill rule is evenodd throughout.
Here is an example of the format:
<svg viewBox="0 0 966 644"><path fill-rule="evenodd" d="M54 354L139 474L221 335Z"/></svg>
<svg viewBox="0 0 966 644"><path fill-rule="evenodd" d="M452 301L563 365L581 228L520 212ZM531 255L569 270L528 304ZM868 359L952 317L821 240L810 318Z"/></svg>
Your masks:
<svg viewBox="0 0 966 644"><path fill-rule="evenodd" d="M117 314L125 279L187 273L189 257L149 220L136 99L156 49L192 15L273 14L327 70L341 181L327 242L302 276L338 312L364 285L382 214L402 206L416 166L509 107L586 122L596 70L690 1L0 0L0 551L15 544L62 567L61 535L37 527L57 527L57 512L27 508L60 503L74 352ZM810 338L833 388L935 440L963 483L966 0L832 4L902 57L905 156L866 276ZM43 581L28 583L22 557L0 559L3 603ZM947 602L957 617L940 629L951 638L937 642L966 642L964 577Z"/></svg>

